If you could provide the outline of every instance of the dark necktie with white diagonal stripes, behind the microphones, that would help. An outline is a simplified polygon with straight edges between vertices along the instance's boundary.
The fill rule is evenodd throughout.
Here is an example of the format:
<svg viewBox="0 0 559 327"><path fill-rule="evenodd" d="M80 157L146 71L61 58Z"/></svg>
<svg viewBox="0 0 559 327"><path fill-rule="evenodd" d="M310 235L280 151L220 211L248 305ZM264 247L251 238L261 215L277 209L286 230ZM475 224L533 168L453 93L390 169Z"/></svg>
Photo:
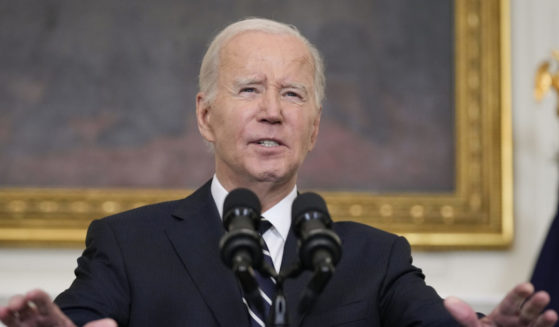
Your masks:
<svg viewBox="0 0 559 327"><path fill-rule="evenodd" d="M260 225L258 228L258 232L260 235L263 235L270 227L272 227L272 223L270 223L266 218L262 217L260 219ZM272 261L272 257L270 256L270 251L268 251L268 246L266 242L264 242L264 247L262 249L264 255L264 262L271 267L274 267L274 263ZM251 327L264 327L266 326L266 317L270 312L270 307L272 306L272 301L276 295L276 281L273 277L263 276L260 272L254 271L254 275L256 277L256 281L260 286L260 295L262 295L262 300L264 302L264 313L251 308L248 305L247 301L243 298L243 302L246 304L248 308L248 313L250 316L250 326Z"/></svg>

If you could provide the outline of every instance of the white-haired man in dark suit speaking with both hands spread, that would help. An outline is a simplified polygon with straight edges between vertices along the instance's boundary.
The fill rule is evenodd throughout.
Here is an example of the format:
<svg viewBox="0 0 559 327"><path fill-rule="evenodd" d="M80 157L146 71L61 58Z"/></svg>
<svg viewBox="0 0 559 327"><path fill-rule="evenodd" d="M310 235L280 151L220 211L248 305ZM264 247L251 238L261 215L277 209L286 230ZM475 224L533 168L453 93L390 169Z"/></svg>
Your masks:
<svg viewBox="0 0 559 327"><path fill-rule="evenodd" d="M0 308L8 326L258 326L243 303L218 242L227 193L257 194L272 227L263 234L276 270L295 261L290 209L297 172L316 143L324 90L317 50L293 27L264 19L228 26L200 71L196 116L215 152L214 177L183 200L94 221L76 280L55 302L42 291ZM335 223L343 258L310 311L292 326L552 326L549 301L530 284L514 288L478 319L458 299L443 301L411 265L405 239ZM310 276L285 282L295 307ZM56 304L55 304L56 303ZM456 319L456 320L455 320Z"/></svg>

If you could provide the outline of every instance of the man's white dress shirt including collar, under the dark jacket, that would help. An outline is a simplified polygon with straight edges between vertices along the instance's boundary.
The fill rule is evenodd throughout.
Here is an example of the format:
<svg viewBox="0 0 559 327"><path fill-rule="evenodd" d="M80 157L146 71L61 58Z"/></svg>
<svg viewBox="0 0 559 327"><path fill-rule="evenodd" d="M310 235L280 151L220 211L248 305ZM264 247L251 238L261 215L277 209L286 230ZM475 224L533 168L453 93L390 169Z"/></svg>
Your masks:
<svg viewBox="0 0 559 327"><path fill-rule="evenodd" d="M223 203L225 202L225 197L228 192L215 175L212 179L211 190L212 197L219 211L219 216L223 219ZM279 271L281 267L283 248L287 240L289 228L291 227L291 205L296 197L297 186L295 186L280 202L262 213L262 216L272 224L272 227L262 235L262 238L264 238L268 246L276 271Z"/></svg>

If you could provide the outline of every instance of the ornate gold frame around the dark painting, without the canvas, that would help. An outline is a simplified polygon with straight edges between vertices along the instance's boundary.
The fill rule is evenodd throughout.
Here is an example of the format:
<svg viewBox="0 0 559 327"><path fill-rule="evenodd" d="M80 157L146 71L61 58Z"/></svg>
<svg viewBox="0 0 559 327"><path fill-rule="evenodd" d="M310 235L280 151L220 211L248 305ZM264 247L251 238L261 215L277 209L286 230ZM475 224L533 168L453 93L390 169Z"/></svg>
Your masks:
<svg viewBox="0 0 559 327"><path fill-rule="evenodd" d="M415 248L504 248L513 239L508 1L457 0L454 10L454 191L321 193L336 220L404 235ZM81 246L91 219L188 193L2 188L0 244Z"/></svg>

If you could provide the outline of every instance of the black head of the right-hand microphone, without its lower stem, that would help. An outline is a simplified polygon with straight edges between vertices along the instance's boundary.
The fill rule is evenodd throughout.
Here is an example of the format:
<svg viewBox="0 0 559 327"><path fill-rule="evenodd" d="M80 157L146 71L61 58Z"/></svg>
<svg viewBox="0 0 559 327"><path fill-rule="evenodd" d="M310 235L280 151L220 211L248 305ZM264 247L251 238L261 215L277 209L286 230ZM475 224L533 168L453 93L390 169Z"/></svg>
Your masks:
<svg viewBox="0 0 559 327"><path fill-rule="evenodd" d="M316 193L299 195L291 208L295 235L300 241L299 259L305 269L338 263L342 255L341 241L331 229L332 219L326 202Z"/></svg>

